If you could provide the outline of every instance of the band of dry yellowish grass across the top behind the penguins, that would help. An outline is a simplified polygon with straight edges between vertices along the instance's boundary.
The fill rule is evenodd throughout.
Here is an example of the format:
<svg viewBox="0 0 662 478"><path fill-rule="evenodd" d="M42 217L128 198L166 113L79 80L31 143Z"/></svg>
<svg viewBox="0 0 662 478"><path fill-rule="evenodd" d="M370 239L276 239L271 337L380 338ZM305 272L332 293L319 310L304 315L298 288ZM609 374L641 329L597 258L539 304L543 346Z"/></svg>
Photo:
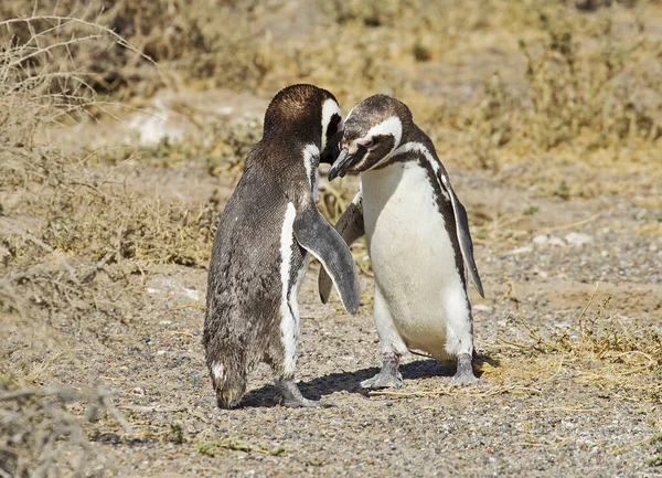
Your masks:
<svg viewBox="0 0 662 478"><path fill-rule="evenodd" d="M50 54L50 67L85 68L88 85L120 96L192 82L273 93L303 81L330 88L349 108L375 92L389 93L453 151L444 160L494 171L525 161L531 167L520 181L551 184L544 193L573 198L595 192L578 184L564 190L545 170L549 162L579 157L586 164L636 159L654 166L662 136L659 2L594 3L483 0L467 9L415 0L319 2L298 12L310 18L306 26L284 33L279 25L292 12L280 2L125 0L108 8L100 0L68 0L40 2L36 13L51 17L12 22L0 33L22 45L39 28L47 32L40 44L74 35L66 50ZM35 14L18 1L4 2L1 12ZM134 46L108 49L116 39L90 28L90 19ZM83 34L98 41L83 47ZM446 79L453 74L447 65L466 76ZM418 72L440 79L423 82ZM447 89L458 81L468 85L459 98Z"/></svg>

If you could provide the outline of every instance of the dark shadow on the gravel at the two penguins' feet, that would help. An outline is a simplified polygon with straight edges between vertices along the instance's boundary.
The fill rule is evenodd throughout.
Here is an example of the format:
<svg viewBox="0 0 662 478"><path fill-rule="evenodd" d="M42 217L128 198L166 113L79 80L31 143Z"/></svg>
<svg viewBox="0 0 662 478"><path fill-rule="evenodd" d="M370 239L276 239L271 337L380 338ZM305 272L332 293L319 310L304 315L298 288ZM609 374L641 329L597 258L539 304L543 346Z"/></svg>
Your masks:
<svg viewBox="0 0 662 478"><path fill-rule="evenodd" d="M476 358L476 364L478 365L480 363L489 363L492 367L499 365L496 360L488 355L478 355ZM331 395L335 392L367 395L365 390L359 387L359 383L375 375L378 371L378 368L371 367L370 369L361 369L354 372L330 373L308 382L299 382L299 389L303 396L311 400L320 400L323 396ZM455 362L441 362L435 359L418 360L401 365L399 371L405 381L431 379L436 376L451 378L456 372L456 364ZM479 371L477 371L477 375L480 376ZM273 407L279 403L280 394L276 387L274 385L265 385L244 395L238 407Z"/></svg>

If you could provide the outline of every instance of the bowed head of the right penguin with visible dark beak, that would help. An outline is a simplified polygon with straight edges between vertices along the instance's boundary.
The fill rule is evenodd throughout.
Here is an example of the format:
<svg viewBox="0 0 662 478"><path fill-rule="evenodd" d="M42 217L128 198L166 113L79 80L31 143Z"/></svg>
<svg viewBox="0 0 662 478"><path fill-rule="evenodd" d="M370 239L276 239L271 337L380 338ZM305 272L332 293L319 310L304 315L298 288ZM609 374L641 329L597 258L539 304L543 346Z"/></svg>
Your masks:
<svg viewBox="0 0 662 478"><path fill-rule="evenodd" d="M329 171L329 180L382 164L412 124L407 105L389 96L374 95L359 103L345 118L342 150Z"/></svg>

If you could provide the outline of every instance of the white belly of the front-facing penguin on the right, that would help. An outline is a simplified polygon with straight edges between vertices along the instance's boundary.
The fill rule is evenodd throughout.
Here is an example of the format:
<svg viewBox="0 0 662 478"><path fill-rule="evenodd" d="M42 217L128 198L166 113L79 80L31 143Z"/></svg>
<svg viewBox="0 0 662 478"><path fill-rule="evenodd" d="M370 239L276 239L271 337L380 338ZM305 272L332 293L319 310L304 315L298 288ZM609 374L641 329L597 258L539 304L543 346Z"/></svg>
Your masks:
<svg viewBox="0 0 662 478"><path fill-rule="evenodd" d="M466 329L470 312L427 173L399 162L362 173L361 184L369 254L391 319L409 349L442 358L447 331L456 321Z"/></svg>

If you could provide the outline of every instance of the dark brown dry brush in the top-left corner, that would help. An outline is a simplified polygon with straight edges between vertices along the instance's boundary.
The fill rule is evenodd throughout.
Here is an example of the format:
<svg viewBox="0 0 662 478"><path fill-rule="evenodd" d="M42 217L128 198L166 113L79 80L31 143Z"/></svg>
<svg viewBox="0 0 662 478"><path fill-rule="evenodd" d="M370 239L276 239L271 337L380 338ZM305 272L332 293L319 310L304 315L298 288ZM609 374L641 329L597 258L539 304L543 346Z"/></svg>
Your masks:
<svg viewBox="0 0 662 478"><path fill-rule="evenodd" d="M271 65L264 32L252 24L270 7L215 0L8 0L0 18L14 20L0 29L0 40L35 47L40 60L49 57L50 68L83 68L88 86L122 98L150 96L191 78L257 87ZM89 38L97 41L85 42ZM115 47L118 41L121 47ZM66 51L52 54L47 49L55 44Z"/></svg>

